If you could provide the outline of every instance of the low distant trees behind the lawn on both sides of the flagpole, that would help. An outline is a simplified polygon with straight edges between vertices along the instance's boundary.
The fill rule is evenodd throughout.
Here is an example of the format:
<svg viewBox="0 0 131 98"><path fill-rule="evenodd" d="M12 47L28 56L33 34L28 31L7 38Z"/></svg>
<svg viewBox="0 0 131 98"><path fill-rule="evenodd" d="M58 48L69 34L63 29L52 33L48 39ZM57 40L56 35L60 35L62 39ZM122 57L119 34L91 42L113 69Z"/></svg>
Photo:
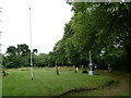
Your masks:
<svg viewBox="0 0 131 98"><path fill-rule="evenodd" d="M49 53L39 53L38 50L33 49L32 60L34 66L55 66L55 59L52 59L51 52ZM7 69L17 69L31 66L31 50L26 44L14 46L9 46L7 52L2 54L2 66Z"/></svg>

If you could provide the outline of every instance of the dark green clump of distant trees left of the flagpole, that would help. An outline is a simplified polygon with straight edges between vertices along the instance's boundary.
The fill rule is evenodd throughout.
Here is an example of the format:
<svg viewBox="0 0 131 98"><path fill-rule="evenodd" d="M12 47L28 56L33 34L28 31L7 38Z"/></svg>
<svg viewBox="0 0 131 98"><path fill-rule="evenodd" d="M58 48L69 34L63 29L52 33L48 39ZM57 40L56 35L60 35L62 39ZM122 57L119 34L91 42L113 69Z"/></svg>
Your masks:
<svg viewBox="0 0 131 98"><path fill-rule="evenodd" d="M29 66L29 53L31 50L26 44L17 45L17 47L9 46L3 64L5 68Z"/></svg>

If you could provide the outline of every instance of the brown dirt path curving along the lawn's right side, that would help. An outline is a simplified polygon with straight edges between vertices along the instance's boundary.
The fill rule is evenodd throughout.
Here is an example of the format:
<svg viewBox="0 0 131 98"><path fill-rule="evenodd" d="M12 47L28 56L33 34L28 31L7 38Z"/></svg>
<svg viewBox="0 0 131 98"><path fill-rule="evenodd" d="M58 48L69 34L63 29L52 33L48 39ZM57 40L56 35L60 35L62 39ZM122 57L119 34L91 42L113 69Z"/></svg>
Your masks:
<svg viewBox="0 0 131 98"><path fill-rule="evenodd" d="M112 74L108 71L104 71L104 73L110 77L119 79L120 84L119 87L115 87L110 90L108 90L104 96L116 96L123 93L129 93L129 77Z"/></svg>

